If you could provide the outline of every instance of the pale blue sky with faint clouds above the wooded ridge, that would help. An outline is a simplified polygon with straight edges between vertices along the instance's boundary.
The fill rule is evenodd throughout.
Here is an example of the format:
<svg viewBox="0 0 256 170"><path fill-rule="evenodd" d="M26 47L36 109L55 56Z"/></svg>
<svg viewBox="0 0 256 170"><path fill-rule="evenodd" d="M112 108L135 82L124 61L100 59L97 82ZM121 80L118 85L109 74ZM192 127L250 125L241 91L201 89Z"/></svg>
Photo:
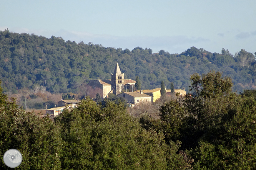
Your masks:
<svg viewBox="0 0 256 170"><path fill-rule="evenodd" d="M180 54L256 52L256 0L2 0L0 30Z"/></svg>

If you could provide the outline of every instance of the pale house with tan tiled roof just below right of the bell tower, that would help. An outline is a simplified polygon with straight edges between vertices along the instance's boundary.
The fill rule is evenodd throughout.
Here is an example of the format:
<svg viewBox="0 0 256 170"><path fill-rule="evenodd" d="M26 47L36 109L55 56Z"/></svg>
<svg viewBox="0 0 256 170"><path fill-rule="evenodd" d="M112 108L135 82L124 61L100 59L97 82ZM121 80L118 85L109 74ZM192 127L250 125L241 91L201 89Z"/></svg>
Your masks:
<svg viewBox="0 0 256 170"><path fill-rule="evenodd" d="M124 92L117 97L124 98L128 103L131 102L132 104L144 103L144 102L151 102L152 97L150 95L146 95L143 93L143 90L140 92Z"/></svg>

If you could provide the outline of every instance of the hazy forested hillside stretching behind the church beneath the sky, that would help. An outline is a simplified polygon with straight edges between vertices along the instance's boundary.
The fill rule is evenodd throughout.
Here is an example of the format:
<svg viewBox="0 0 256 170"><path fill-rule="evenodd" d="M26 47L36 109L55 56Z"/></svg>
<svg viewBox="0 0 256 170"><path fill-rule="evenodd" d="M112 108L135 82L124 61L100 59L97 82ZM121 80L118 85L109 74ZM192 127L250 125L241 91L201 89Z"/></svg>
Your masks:
<svg viewBox="0 0 256 170"><path fill-rule="evenodd" d="M142 90L158 88L162 80L166 89L170 89L170 82L176 89L188 89L191 74L211 70L231 77L233 90L256 88L255 56L244 49L235 56L225 49L220 52L191 47L181 54L164 50L152 54L147 48L115 49L54 36L12 33L7 29L0 31L0 79L5 93L17 93L35 84L51 93L76 93L90 79L111 80L113 65L118 62L126 78L140 77Z"/></svg>

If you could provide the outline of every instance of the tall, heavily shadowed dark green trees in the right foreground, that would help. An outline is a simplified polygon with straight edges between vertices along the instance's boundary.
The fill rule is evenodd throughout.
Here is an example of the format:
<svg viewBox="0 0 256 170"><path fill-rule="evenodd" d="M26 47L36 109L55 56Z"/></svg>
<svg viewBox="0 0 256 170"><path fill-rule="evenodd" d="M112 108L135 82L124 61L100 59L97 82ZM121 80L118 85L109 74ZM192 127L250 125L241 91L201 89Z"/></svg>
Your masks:
<svg viewBox="0 0 256 170"><path fill-rule="evenodd" d="M193 93L161 106L160 120L142 116L142 127L163 132L167 144L181 141L196 170L255 169L255 92L237 95L232 85L219 72L193 74Z"/></svg>

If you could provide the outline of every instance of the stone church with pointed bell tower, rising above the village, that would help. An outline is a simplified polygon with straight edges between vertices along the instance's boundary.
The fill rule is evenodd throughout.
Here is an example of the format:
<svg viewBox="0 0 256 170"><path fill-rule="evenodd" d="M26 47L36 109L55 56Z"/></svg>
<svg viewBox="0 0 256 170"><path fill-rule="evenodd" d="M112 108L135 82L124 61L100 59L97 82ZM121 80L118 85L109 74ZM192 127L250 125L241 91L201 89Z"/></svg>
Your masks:
<svg viewBox="0 0 256 170"><path fill-rule="evenodd" d="M109 93L119 95L121 91L126 88L126 85L135 85L135 81L131 79L125 79L125 74L121 73L118 63L116 64L113 74L111 74L111 80L90 80L88 85L97 90L103 98Z"/></svg>

